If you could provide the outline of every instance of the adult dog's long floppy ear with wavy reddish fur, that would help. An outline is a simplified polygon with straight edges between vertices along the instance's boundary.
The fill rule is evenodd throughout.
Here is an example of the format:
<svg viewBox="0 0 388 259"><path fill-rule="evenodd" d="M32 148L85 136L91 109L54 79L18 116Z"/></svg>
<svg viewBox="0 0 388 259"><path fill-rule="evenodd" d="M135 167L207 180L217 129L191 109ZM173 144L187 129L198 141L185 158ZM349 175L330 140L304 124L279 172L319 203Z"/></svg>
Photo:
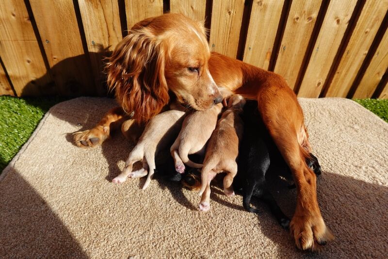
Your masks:
<svg viewBox="0 0 388 259"><path fill-rule="evenodd" d="M168 103L164 77L166 49L148 28L133 29L107 63L108 87L133 118L146 122Z"/></svg>

